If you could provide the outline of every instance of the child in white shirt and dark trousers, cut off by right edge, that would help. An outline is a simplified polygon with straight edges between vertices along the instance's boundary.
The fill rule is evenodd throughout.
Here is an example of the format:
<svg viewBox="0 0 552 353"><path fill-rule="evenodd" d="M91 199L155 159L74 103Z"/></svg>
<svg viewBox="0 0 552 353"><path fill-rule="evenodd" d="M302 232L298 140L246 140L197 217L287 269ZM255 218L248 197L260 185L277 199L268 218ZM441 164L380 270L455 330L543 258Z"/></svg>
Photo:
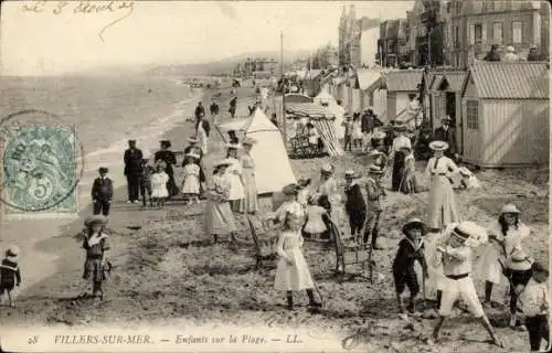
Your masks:
<svg viewBox="0 0 552 353"><path fill-rule="evenodd" d="M550 345L550 295L548 290L549 270L540 263L531 266L531 279L519 295L521 310L526 315L531 352L539 352L542 339Z"/></svg>

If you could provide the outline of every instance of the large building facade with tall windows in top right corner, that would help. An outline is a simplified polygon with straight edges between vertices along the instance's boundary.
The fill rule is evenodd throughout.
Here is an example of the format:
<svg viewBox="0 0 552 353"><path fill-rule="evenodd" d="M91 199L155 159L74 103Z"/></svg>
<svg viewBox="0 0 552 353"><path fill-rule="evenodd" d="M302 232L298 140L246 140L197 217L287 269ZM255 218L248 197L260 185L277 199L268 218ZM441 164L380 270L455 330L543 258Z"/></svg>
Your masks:
<svg viewBox="0 0 552 353"><path fill-rule="evenodd" d="M492 44L506 54L513 46L526 58L531 45L541 53L549 51L550 8L544 1L450 1L450 45L446 56L452 65L467 68L482 60Z"/></svg>

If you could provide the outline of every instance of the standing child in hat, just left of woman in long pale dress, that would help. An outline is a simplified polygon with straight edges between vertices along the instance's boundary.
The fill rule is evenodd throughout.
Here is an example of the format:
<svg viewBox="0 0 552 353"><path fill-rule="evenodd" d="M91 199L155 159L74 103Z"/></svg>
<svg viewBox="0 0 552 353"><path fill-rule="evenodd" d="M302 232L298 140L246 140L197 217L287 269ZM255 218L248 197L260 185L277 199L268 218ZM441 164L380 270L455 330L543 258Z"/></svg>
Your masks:
<svg viewBox="0 0 552 353"><path fill-rule="evenodd" d="M380 234L380 218L383 211L381 199L385 196L385 191L381 185L383 171L378 165L370 165L369 176L367 180L367 224L364 227L363 243L368 244L368 239L372 236L371 246L374 250L382 249L378 244Z"/></svg>

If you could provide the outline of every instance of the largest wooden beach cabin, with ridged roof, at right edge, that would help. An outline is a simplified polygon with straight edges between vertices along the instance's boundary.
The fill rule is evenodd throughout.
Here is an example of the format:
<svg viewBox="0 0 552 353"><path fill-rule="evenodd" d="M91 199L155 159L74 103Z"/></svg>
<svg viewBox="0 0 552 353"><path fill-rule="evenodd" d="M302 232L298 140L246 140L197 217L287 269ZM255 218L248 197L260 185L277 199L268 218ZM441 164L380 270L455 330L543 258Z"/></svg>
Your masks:
<svg viewBox="0 0 552 353"><path fill-rule="evenodd" d="M476 62L461 89L463 159L484 168L549 163L550 69Z"/></svg>

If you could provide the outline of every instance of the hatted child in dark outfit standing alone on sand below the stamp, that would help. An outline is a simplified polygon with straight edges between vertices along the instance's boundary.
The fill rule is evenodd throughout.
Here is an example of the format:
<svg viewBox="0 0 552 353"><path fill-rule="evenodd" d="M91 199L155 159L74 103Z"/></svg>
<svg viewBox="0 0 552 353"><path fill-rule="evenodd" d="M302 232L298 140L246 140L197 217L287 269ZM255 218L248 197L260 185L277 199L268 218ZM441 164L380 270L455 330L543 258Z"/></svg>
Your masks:
<svg viewBox="0 0 552 353"><path fill-rule="evenodd" d="M107 261L105 252L110 248L108 236L104 233L105 224L105 217L99 215L91 216L84 221L86 234L83 248L86 250L86 260L84 263L83 279L92 279L92 297L99 299L104 299L102 284L106 280Z"/></svg>

